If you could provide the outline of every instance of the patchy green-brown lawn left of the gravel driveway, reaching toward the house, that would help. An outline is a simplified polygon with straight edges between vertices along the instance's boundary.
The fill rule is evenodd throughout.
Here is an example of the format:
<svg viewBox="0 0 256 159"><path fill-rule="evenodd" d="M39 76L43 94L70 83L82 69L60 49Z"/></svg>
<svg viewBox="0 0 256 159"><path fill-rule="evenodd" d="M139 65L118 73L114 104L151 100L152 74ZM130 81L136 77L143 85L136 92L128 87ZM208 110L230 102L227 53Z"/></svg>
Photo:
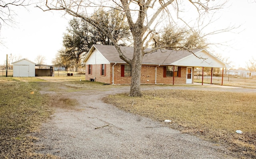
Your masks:
<svg viewBox="0 0 256 159"><path fill-rule="evenodd" d="M40 131L41 124L50 119L55 107L74 109L78 102L40 92L61 93L101 87L102 83L85 81L83 75L67 77L64 73L57 77L0 77L0 158L58 158L36 153L34 141L37 138L30 134Z"/></svg>

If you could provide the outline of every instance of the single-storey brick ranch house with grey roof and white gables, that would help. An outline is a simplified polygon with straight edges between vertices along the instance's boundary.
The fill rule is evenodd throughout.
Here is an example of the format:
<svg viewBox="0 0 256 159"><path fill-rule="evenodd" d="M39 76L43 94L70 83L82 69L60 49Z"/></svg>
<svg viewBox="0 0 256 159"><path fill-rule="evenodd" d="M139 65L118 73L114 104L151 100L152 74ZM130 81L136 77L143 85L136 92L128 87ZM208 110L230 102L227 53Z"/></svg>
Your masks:
<svg viewBox="0 0 256 159"><path fill-rule="evenodd" d="M124 51L126 57L132 59L133 47L120 47L120 49ZM161 49L144 55L141 84L193 83L194 67L228 67L226 63L204 49L194 50L193 53ZM131 67L119 58L114 46L94 44L82 63L86 67L86 80L107 84L131 82Z"/></svg>

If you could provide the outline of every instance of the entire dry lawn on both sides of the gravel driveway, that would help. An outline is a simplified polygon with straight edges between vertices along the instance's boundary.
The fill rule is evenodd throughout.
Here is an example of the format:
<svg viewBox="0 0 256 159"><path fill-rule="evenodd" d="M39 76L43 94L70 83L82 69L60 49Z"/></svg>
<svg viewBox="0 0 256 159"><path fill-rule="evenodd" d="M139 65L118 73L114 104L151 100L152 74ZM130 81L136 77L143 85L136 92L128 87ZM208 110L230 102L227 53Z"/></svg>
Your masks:
<svg viewBox="0 0 256 159"><path fill-rule="evenodd" d="M42 95L40 91L58 92L59 98L55 100L60 108L74 108L76 101L62 98L61 92L118 87L122 86L85 81L84 75L1 77L0 158L57 158L35 153L33 141L36 138L29 135L38 131L54 111L49 102L52 97ZM161 121L163 126L182 133L197 135L216 145L227 145L230 152L239 158L256 158L255 93L167 90L160 87L163 89L144 91L143 97L116 94L104 98L104 101L127 112ZM236 130L244 133L238 134Z"/></svg>

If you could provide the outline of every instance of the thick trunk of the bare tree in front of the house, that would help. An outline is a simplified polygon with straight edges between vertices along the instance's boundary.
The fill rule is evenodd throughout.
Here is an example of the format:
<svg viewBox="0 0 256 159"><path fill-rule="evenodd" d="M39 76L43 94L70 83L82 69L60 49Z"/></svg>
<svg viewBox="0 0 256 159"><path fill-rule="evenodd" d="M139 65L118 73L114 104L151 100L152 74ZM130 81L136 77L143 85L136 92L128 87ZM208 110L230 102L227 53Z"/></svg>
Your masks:
<svg viewBox="0 0 256 159"><path fill-rule="evenodd" d="M142 96L140 92L140 74L141 74L141 64L142 64L143 47L139 40L134 41L134 54L132 58L132 79L130 96Z"/></svg>

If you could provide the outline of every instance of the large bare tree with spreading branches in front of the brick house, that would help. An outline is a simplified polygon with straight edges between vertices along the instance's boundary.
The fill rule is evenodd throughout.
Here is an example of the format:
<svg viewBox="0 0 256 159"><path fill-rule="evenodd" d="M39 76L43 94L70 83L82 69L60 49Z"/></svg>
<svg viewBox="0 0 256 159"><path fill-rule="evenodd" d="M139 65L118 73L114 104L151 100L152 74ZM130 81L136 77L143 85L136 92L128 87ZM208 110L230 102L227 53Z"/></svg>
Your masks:
<svg viewBox="0 0 256 159"><path fill-rule="evenodd" d="M193 27L190 27L190 29L199 26L203 27L202 24L204 23L202 22L211 21L212 19L209 18L208 15L222 8L223 3L220 4L220 2L210 0L46 0L46 8L45 6L38 7L44 11L65 11L72 16L84 19L104 33L116 47L120 58L132 67L130 96L142 96L140 91L142 57L157 49L170 47L169 45L161 45L151 51L144 51L150 45L154 35L158 33L162 26L170 21L174 21L174 19L183 22L183 24L190 27L191 23L189 21L191 20L185 19L186 16L184 16L184 10L191 10L191 8L194 8L194 13L196 13L194 17L195 19L197 18L198 21L196 22L197 26L194 26L193 24ZM113 37L108 27L102 26L100 22L92 18L93 15L90 14L90 11L97 11L101 8L104 8L106 11L121 10L125 15L123 19L127 20L133 37L134 54L132 59L129 59L124 55L124 52L121 51L116 39ZM182 14L183 16L180 16ZM190 12L187 12L187 16L190 14ZM206 18L204 19L204 17ZM223 30L215 31L212 32L212 34L222 31ZM175 47L191 51L185 45Z"/></svg>

